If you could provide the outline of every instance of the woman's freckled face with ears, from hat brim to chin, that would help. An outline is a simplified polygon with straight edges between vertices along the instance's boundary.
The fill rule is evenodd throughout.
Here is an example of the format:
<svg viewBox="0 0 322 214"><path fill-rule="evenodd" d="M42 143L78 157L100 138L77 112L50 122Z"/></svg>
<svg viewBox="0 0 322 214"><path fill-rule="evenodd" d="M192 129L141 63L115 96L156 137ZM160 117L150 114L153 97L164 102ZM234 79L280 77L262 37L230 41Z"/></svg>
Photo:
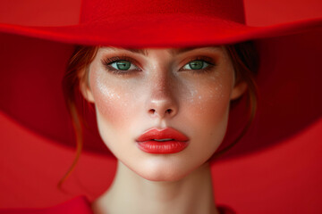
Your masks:
<svg viewBox="0 0 322 214"><path fill-rule="evenodd" d="M233 64L222 46L101 47L88 77L80 88L95 103L103 141L129 169L156 181L178 180L208 161L225 136L230 101L245 89L234 86ZM157 139L158 131L170 129L186 139L140 137L150 131ZM140 141L149 143L142 149Z"/></svg>

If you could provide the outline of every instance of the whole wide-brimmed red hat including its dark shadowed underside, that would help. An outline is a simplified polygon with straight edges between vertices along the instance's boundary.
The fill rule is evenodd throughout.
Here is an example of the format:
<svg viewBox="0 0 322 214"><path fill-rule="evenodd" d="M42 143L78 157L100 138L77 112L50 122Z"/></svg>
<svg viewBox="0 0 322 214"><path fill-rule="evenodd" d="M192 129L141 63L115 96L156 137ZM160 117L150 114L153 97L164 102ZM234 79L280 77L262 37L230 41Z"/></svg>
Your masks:
<svg viewBox="0 0 322 214"><path fill-rule="evenodd" d="M280 143L320 119L321 27L322 19L250 27L239 0L84 0L77 25L0 23L0 109L55 142L72 144L61 78L74 45L183 47L253 40L260 55L258 114L249 133L225 156L236 157ZM241 111L232 112L224 144L238 135L233 132ZM107 152L93 130L86 131L84 148Z"/></svg>

